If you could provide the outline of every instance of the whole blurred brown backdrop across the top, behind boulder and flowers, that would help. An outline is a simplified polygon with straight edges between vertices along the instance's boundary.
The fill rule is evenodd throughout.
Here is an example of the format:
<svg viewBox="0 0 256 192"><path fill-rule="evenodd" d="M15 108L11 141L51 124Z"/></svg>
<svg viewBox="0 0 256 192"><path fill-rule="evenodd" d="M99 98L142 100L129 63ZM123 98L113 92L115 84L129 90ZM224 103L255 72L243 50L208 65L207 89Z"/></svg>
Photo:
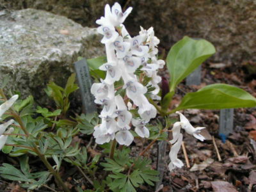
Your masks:
<svg viewBox="0 0 256 192"><path fill-rule="evenodd" d="M140 0L118 1L132 6L125 21L132 35L140 26L153 26L161 46L169 49L185 35L205 38L214 44L214 62L228 65L256 61L255 0ZM83 26L96 27L95 20L104 15L104 5L112 0L0 0L0 9L35 8L64 15Z"/></svg>

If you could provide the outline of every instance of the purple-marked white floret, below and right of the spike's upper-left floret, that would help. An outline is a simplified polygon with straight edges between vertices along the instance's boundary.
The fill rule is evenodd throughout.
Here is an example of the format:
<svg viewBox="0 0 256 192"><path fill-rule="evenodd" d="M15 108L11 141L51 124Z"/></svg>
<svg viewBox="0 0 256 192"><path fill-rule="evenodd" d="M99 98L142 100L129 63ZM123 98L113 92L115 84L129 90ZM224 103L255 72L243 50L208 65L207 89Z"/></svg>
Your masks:
<svg viewBox="0 0 256 192"><path fill-rule="evenodd" d="M116 57L118 59L124 58L130 49L130 44L128 42L124 42L122 36L118 36L112 45L115 47Z"/></svg>

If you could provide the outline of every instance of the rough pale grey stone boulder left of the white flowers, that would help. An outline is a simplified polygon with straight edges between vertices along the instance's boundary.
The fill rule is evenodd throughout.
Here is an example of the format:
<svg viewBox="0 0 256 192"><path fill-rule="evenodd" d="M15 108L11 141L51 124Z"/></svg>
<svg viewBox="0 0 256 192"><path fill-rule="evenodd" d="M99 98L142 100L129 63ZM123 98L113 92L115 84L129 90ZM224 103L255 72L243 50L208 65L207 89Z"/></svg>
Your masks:
<svg viewBox="0 0 256 192"><path fill-rule="evenodd" d="M43 100L49 81L64 85L78 56L104 55L96 29L42 10L0 12L0 84Z"/></svg>

